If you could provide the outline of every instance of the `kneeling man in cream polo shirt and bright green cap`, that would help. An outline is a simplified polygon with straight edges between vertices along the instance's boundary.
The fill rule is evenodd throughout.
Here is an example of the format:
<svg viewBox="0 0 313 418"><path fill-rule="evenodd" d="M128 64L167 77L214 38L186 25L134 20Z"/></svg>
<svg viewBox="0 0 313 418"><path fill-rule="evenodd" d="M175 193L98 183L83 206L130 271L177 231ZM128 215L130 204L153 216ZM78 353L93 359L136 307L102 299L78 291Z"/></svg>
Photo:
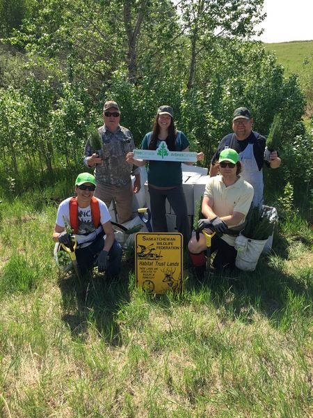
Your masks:
<svg viewBox="0 0 313 418"><path fill-rule="evenodd" d="M205 187L202 201L204 218L199 220L198 226L209 234L216 232L211 240L211 252L216 251L214 268L234 268L235 239L245 226L253 198L253 187L239 176L241 162L235 150L227 148L220 153L218 169L220 175L209 178ZM197 240L197 236L193 234L188 249L198 274L203 274L205 269L206 248L204 235L200 233Z"/></svg>

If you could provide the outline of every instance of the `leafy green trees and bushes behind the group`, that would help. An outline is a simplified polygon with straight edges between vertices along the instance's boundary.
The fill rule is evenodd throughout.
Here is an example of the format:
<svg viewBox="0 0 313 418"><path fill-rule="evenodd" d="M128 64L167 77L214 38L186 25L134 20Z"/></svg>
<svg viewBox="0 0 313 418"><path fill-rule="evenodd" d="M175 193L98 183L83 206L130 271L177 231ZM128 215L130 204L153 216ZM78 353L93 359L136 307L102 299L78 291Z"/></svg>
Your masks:
<svg viewBox="0 0 313 418"><path fill-rule="evenodd" d="M120 104L137 146L157 107L170 104L205 164L238 106L250 108L265 135L280 112L283 157L311 152L297 146L310 137L298 77L249 40L264 19L261 0L8 3L0 3L3 194L45 176L54 181L61 167L79 171L88 126L102 123L106 99ZM305 185L312 181L312 171L299 171L294 159L284 164L280 189L289 180L298 193L303 176Z"/></svg>

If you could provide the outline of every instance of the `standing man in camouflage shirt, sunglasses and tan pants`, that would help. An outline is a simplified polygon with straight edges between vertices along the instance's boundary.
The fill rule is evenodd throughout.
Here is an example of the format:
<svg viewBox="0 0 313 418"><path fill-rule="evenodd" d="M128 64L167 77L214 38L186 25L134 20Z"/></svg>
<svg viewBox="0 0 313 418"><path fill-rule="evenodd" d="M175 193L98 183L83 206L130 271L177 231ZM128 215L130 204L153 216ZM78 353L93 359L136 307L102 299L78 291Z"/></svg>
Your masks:
<svg viewBox="0 0 313 418"><path fill-rule="evenodd" d="M114 201L118 221L122 224L131 219L132 196L141 188L140 169L126 162L126 155L134 150L135 144L131 132L120 126L120 109L116 102L110 100L104 103L103 119L104 125L98 128L103 158L87 141L83 162L86 167L95 167L95 197L104 201L108 208ZM131 174L135 176L134 188L131 186Z"/></svg>

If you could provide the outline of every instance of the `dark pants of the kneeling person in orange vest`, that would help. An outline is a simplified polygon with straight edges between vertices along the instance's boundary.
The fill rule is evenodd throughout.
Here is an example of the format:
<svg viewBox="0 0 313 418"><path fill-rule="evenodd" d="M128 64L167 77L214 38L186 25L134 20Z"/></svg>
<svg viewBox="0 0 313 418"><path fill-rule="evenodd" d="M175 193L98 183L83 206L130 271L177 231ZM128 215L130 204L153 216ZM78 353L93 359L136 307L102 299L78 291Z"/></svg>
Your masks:
<svg viewBox="0 0 313 418"><path fill-rule="evenodd" d="M88 247L78 248L75 251L77 263L81 270L81 274L84 276L90 272L93 268L93 264L97 258L97 255L104 247L104 233L100 233L95 241L93 241ZM108 254L108 263L106 268L106 276L114 277L120 274L120 263L122 260L122 247L117 241L113 242L113 245Z"/></svg>

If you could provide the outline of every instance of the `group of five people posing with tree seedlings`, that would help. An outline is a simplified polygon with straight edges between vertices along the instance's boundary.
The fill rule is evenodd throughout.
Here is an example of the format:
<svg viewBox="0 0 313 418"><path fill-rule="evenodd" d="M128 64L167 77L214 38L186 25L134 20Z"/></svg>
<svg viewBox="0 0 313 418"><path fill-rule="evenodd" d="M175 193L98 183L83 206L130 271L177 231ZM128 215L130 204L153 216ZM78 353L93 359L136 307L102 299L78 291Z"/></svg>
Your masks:
<svg viewBox="0 0 313 418"><path fill-rule="evenodd" d="M104 124L98 129L102 156L87 141L83 160L86 167L94 168L95 176L90 173L77 176L76 196L66 199L58 208L54 241L68 247L72 244L74 231L77 240L75 253L81 273L88 274L96 261L99 271L105 271L109 277L118 276L122 248L114 239L108 208L113 201L119 222L131 219L132 197L141 189L139 167L146 165L153 231L168 231L168 199L175 211L177 230L182 233L184 244L188 244L191 261L197 268L203 268L206 242L201 233L200 238L191 237L181 162L134 158L134 138L127 128L120 125L120 108L116 102L104 103L103 119ZM233 133L220 141L211 160L210 178L202 203L203 219L199 223L201 229L216 232L211 247L212 251L217 251L215 268L234 265L234 238L245 224L252 201L255 206L262 205L266 139L252 131L252 123L248 109L236 109ZM166 141L169 150L189 151L188 139L184 132L175 128L173 109L167 105L159 107L152 132L145 134L141 148L157 150L161 141ZM203 161L204 154L197 153L196 159ZM268 165L271 168L280 166L276 151L271 153ZM135 176L134 186L131 175Z"/></svg>

